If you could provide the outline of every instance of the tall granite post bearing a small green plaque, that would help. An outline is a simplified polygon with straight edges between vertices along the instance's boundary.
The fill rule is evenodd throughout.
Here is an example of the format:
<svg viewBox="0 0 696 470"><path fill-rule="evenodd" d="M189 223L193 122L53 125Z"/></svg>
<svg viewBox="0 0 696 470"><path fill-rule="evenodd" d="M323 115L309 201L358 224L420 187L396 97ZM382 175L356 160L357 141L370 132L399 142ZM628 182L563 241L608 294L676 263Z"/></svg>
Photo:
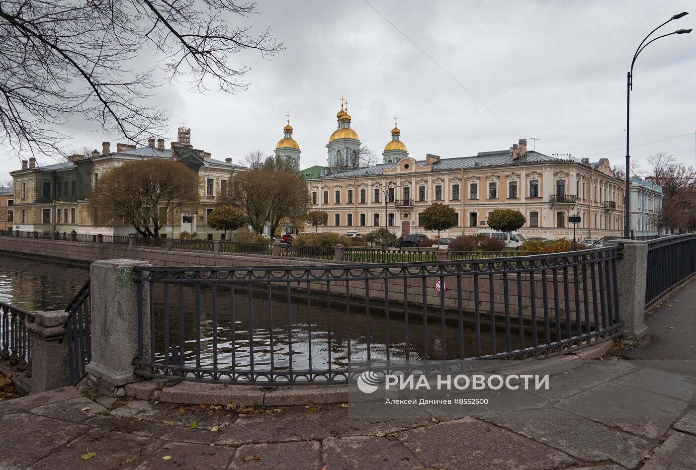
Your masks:
<svg viewBox="0 0 696 470"><path fill-rule="evenodd" d="M149 311L150 289L132 282L134 266L152 266L135 259L95 261L90 268L92 301L92 362L87 372L97 391L113 396L134 382L133 359L138 355L138 302ZM150 351L150 316L143 315L143 351Z"/></svg>

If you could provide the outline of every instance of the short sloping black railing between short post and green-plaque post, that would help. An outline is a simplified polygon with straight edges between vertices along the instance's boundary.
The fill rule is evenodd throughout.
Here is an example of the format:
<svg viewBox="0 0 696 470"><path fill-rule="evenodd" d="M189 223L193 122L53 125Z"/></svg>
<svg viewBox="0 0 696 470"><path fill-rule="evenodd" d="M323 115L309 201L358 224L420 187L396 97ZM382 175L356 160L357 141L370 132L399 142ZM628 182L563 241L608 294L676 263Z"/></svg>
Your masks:
<svg viewBox="0 0 696 470"><path fill-rule="evenodd" d="M92 360L92 316L90 280L70 301L65 330L68 337L68 369L70 384L75 385L84 378L86 366Z"/></svg>

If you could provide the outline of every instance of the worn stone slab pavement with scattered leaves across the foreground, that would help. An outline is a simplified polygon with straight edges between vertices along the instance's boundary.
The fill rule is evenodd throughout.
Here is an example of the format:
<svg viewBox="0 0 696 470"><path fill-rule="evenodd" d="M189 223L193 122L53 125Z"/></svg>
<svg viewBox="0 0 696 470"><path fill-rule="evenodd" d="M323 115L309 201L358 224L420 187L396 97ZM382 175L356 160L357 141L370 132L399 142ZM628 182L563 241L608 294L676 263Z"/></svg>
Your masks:
<svg viewBox="0 0 696 470"><path fill-rule="evenodd" d="M0 403L0 470L688 470L695 394L690 362L613 356L475 417L355 418L353 403L171 405L68 387Z"/></svg>

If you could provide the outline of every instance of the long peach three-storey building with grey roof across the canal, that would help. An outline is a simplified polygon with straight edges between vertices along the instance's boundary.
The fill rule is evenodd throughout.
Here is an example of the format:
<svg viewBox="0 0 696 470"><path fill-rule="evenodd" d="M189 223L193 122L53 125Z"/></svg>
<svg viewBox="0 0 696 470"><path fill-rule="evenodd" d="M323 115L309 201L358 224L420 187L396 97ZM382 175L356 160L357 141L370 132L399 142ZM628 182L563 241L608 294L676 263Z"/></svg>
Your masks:
<svg viewBox="0 0 696 470"><path fill-rule="evenodd" d="M324 231L370 232L388 227L395 234L425 233L420 213L434 202L457 210L457 227L441 236L487 229L494 209L515 209L527 222L526 237L572 238L568 218L579 215L578 238L619 236L623 229L622 180L609 161L559 159L527 149L526 140L507 150L475 156L425 160L409 156L401 131L392 130L380 165L336 171L308 179L310 206L329 214ZM329 160L329 168L333 165ZM313 230L306 227L306 230Z"/></svg>

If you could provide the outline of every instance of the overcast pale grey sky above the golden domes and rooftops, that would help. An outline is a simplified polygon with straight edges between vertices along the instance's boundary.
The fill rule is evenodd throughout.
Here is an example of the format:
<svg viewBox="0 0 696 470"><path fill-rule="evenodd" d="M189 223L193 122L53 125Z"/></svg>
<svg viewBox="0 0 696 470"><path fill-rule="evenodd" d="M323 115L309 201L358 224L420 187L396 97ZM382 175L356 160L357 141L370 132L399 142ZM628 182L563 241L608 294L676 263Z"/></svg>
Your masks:
<svg viewBox="0 0 696 470"><path fill-rule="evenodd" d="M271 26L285 49L271 60L254 51L232 56L251 66L246 92L200 95L166 83L156 101L171 116L167 147L186 122L194 147L235 162L255 149L272 153L290 113L301 167L325 165L343 95L351 127L379 161L397 115L402 141L418 159L539 138L536 149L545 154L623 165L626 72L635 48L689 8L665 33L696 29L693 1L260 1L259 15L243 21ZM667 152L693 165L696 31L650 44L634 77L631 144L650 144L632 156ZM90 122L71 126L58 128L72 136L71 148L126 142ZM0 181L18 167L16 159L0 160Z"/></svg>

